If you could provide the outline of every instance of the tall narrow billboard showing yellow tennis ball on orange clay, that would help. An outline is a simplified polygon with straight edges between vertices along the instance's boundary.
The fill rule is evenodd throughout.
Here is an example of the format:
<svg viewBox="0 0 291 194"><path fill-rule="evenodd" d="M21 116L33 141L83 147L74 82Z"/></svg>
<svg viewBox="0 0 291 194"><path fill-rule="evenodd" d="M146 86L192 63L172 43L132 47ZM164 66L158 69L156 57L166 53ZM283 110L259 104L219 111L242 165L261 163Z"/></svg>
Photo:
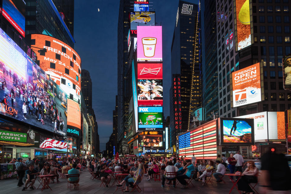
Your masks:
<svg viewBox="0 0 291 194"><path fill-rule="evenodd" d="M235 0L236 51L252 44L249 0Z"/></svg>

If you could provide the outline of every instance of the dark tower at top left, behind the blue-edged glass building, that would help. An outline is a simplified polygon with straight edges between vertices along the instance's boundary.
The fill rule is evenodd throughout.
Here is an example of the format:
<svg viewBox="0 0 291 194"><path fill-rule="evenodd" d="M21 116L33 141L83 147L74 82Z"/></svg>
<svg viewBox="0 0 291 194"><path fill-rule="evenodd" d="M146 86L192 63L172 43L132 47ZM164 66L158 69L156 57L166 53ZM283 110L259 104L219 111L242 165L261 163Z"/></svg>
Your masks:
<svg viewBox="0 0 291 194"><path fill-rule="evenodd" d="M52 0L61 18L74 36L74 0Z"/></svg>

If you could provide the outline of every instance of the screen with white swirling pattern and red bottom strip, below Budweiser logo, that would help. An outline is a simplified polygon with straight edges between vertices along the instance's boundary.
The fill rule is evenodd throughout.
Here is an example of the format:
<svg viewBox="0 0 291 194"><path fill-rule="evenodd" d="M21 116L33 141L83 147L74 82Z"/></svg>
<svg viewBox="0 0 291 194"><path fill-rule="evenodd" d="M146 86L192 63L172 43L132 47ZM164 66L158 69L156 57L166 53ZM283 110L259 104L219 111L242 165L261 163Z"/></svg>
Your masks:
<svg viewBox="0 0 291 194"><path fill-rule="evenodd" d="M137 86L139 105L163 105L162 79L138 79Z"/></svg>

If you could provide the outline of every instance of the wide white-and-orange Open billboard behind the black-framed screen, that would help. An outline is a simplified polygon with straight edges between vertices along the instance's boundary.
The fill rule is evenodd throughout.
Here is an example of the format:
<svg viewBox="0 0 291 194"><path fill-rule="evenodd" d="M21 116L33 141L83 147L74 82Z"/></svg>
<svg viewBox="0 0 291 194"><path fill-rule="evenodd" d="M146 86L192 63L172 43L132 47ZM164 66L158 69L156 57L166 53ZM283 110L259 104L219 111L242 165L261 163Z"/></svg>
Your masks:
<svg viewBox="0 0 291 194"><path fill-rule="evenodd" d="M254 119L254 137L256 140L285 139L284 112L259 112L236 118Z"/></svg>

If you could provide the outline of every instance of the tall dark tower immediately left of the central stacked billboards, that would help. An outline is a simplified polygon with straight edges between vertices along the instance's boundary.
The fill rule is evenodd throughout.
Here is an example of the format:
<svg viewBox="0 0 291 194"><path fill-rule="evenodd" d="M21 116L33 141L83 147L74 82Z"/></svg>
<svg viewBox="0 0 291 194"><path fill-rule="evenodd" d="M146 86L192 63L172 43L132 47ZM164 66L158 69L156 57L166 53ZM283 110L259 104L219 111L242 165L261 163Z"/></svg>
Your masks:
<svg viewBox="0 0 291 194"><path fill-rule="evenodd" d="M124 137L125 118L129 114L129 100L130 97L126 91L128 84L131 84L131 79L127 79L126 75L129 70L128 62L128 45L127 36L130 28L129 13L132 3L129 0L121 0L119 4L119 16L117 27L117 98L118 98L118 111L117 111L117 141L118 151L122 153L122 145L126 144L127 140ZM123 142L123 143L122 143Z"/></svg>

